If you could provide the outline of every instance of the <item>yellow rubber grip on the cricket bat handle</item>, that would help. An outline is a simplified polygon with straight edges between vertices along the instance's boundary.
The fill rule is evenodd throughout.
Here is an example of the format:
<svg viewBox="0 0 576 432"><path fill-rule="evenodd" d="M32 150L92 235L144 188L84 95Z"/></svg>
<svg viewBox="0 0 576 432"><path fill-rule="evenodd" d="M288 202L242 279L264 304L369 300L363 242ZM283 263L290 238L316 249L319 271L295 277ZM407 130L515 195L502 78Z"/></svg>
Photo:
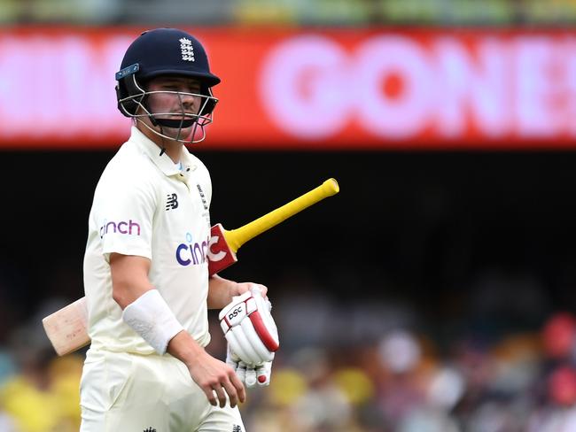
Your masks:
<svg viewBox="0 0 576 432"><path fill-rule="evenodd" d="M320 186L310 190L306 194L292 200L282 207L265 214L261 218L250 222L243 227L231 229L230 231L224 230L224 237L230 249L237 252L244 243L253 239L256 235L261 235L264 231L276 227L280 222L287 220L294 214L301 212L312 204L322 201L324 198L331 197L339 193L338 181L335 179L328 179Z"/></svg>

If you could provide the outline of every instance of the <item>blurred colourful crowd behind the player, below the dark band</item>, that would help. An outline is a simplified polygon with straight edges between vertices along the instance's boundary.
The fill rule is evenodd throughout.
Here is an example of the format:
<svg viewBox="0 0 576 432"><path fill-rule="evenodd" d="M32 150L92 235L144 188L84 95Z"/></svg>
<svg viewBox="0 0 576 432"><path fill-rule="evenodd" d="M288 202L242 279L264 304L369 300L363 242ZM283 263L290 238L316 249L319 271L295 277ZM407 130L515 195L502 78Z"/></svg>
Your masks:
<svg viewBox="0 0 576 432"><path fill-rule="evenodd" d="M253 432L576 430L576 316L534 315L531 305L544 305L533 294L538 289L489 280L479 283L485 300L472 289L470 304L444 332L439 328L448 316L434 322L416 303L331 296L325 287L302 281L299 289L291 289L292 282L276 286L273 312L281 351L270 387L249 391L246 427ZM500 302L490 300L488 286L501 293ZM507 296L517 301L507 302ZM84 352L57 358L41 326L43 315L66 302L51 298L27 320L3 328L0 432L78 430ZM223 359L225 340L215 318L208 351Z"/></svg>

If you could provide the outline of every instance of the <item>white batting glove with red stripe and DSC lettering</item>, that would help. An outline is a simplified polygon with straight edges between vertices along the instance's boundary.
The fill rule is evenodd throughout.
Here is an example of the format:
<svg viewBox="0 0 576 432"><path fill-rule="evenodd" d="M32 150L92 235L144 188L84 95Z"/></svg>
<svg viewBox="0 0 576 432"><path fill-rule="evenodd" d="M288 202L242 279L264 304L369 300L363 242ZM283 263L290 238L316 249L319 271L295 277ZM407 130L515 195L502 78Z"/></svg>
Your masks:
<svg viewBox="0 0 576 432"><path fill-rule="evenodd" d="M233 297L219 314L231 351L246 365L261 366L274 359L279 342L271 309L260 286L253 284L251 290Z"/></svg>

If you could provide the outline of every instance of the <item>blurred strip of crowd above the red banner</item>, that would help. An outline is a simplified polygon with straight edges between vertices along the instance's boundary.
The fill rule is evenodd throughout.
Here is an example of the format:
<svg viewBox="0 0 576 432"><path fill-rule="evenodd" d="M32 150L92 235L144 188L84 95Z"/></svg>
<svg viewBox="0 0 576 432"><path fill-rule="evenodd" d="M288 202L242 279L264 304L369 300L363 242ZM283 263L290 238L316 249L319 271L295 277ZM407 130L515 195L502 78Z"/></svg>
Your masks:
<svg viewBox="0 0 576 432"><path fill-rule="evenodd" d="M574 0L0 0L0 23L6 24L557 26L575 22Z"/></svg>

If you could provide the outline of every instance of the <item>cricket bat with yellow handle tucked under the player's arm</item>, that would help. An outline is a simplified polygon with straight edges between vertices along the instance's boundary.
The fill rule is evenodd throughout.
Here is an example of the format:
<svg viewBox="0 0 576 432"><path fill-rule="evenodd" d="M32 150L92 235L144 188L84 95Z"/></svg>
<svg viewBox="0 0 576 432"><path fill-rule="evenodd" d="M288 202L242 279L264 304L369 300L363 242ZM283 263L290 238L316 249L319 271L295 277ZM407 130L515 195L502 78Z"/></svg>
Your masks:
<svg viewBox="0 0 576 432"><path fill-rule="evenodd" d="M276 227L279 223L301 212L312 204L331 197L339 192L338 182L334 179L324 181L322 185L292 200L282 207L269 212L243 227L226 230L216 224L210 231L208 246L208 273L212 276L237 262L238 249L256 235ZM88 336L88 310L86 297L48 315L43 320L44 330L54 350L59 356L77 351L90 343Z"/></svg>

